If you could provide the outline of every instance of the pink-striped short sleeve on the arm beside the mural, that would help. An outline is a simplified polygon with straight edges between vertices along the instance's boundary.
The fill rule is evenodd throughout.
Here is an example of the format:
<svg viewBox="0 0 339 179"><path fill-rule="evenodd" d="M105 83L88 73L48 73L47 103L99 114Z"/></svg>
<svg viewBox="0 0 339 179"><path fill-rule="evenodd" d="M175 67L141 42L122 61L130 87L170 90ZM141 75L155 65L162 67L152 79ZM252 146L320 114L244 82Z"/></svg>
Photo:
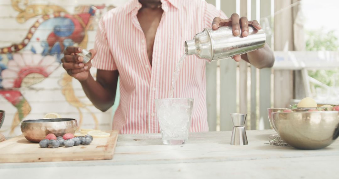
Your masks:
<svg viewBox="0 0 339 179"><path fill-rule="evenodd" d="M107 71L117 70L112 51L109 48L107 32L102 18L100 19L98 24L97 34L95 36L94 42L94 49L96 49L97 54L92 60L93 67Z"/></svg>

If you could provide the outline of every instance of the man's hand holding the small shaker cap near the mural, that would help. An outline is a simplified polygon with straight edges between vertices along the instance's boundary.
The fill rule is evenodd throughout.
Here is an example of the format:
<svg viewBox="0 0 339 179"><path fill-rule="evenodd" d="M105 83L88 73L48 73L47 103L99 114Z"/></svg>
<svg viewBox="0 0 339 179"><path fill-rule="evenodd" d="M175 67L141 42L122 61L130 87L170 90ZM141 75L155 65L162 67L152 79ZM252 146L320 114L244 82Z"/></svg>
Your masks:
<svg viewBox="0 0 339 179"><path fill-rule="evenodd" d="M64 50L64 57L61 59L62 67L65 68L68 75L76 78L79 81L86 80L89 75L89 69L92 66L92 59L97 53L95 49L89 50L92 53L92 58L87 63L83 62L83 57L78 55L81 53L81 47L68 46Z"/></svg>

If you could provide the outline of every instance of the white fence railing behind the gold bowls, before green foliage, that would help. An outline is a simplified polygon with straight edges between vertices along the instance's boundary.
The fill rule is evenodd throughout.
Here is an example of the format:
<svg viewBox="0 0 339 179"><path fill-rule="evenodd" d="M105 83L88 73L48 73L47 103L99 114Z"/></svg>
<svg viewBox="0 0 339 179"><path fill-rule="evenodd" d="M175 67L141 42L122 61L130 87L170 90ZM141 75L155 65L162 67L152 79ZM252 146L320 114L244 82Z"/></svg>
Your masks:
<svg viewBox="0 0 339 179"><path fill-rule="evenodd" d="M303 97L313 97L319 104L339 104L339 72L328 76L328 80L334 81L333 86L327 86L308 75L309 70L336 70L339 69L339 52L336 51L275 51L275 71L295 72L295 93ZM276 75L276 74L275 74ZM278 82L275 82L275 84ZM315 88L319 86L319 91ZM281 101L284 95L275 95L275 101ZM297 97L298 98L298 97ZM296 103L298 100L292 100Z"/></svg>

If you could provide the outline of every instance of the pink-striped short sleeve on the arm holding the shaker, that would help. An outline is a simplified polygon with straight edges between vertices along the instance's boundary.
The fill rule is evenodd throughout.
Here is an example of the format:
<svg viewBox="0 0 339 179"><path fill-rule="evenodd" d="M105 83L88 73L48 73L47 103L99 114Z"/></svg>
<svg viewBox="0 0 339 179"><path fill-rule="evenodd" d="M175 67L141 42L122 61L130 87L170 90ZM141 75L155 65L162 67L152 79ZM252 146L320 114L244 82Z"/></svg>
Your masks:
<svg viewBox="0 0 339 179"><path fill-rule="evenodd" d="M212 22L215 17L220 17L221 19L228 19L224 12L222 12L221 10L217 10L217 8L214 5L208 4L205 1L204 23L206 28L212 28Z"/></svg>

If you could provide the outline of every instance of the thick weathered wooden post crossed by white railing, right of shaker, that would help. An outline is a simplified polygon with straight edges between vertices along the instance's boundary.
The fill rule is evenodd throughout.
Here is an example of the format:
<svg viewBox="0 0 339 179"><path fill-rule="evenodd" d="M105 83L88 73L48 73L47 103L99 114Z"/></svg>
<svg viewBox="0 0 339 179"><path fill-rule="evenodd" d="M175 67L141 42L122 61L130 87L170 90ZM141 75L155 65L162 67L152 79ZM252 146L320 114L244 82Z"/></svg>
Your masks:
<svg viewBox="0 0 339 179"><path fill-rule="evenodd" d="M306 43L298 36L301 33L301 29L296 26L298 22L295 21L299 5L286 8L294 2L297 2L297 0L275 1L274 3L275 12L279 11L274 17L275 51L304 50L304 44ZM281 34L284 35L282 36ZM274 107L287 107L292 99L306 97L301 74L300 70L294 72L289 69L274 70ZM284 86L284 88L281 88L281 86Z"/></svg>

